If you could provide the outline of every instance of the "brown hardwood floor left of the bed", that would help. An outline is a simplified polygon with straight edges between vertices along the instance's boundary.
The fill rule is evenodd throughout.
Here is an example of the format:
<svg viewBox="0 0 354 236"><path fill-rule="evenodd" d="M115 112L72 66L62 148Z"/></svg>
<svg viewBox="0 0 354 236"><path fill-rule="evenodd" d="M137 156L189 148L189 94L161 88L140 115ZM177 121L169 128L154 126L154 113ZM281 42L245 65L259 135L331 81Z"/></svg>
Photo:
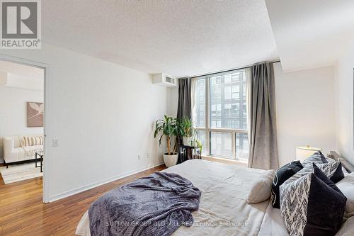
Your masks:
<svg viewBox="0 0 354 236"><path fill-rule="evenodd" d="M162 169L166 167L148 169L46 204L42 203L42 177L4 185L0 176L0 235L75 235L81 216L99 196Z"/></svg>

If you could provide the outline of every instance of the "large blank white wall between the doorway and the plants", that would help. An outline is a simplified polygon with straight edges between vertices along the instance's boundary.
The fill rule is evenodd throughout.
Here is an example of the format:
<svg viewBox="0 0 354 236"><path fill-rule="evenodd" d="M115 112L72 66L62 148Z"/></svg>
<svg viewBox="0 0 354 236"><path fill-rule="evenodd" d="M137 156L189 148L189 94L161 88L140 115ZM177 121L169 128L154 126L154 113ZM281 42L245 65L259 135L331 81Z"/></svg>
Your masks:
<svg viewBox="0 0 354 236"><path fill-rule="evenodd" d="M6 54L50 64L45 172L51 199L162 162L153 124L166 113L167 89L148 74L48 44ZM53 138L59 147L51 146Z"/></svg>

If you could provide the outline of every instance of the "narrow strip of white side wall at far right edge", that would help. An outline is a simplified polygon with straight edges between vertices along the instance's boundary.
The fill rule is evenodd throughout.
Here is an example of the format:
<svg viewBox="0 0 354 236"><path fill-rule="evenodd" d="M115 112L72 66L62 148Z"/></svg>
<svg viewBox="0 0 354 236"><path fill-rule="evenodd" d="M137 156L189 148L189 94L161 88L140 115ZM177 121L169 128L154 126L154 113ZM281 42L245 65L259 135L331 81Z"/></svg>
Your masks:
<svg viewBox="0 0 354 236"><path fill-rule="evenodd" d="M336 137L338 152L354 164L353 150L353 68L354 44L336 67Z"/></svg>

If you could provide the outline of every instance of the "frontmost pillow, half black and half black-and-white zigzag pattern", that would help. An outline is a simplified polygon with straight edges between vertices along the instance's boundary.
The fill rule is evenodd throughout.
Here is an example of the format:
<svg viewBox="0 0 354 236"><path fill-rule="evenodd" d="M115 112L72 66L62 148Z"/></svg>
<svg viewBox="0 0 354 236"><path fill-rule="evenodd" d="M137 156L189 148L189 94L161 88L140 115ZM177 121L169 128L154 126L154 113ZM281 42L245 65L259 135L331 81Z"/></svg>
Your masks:
<svg viewBox="0 0 354 236"><path fill-rule="evenodd" d="M341 227L346 196L314 166L314 173L280 186L280 213L290 236L335 235Z"/></svg>

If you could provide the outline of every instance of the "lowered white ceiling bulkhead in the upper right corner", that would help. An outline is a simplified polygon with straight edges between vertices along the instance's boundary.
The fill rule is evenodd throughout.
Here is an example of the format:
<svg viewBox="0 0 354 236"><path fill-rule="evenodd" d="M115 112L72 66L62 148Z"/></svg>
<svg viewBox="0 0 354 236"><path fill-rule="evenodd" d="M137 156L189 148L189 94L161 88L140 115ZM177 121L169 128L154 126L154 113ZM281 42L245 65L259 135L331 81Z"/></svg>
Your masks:
<svg viewBox="0 0 354 236"><path fill-rule="evenodd" d="M265 1L285 71L333 65L353 43L353 0Z"/></svg>

